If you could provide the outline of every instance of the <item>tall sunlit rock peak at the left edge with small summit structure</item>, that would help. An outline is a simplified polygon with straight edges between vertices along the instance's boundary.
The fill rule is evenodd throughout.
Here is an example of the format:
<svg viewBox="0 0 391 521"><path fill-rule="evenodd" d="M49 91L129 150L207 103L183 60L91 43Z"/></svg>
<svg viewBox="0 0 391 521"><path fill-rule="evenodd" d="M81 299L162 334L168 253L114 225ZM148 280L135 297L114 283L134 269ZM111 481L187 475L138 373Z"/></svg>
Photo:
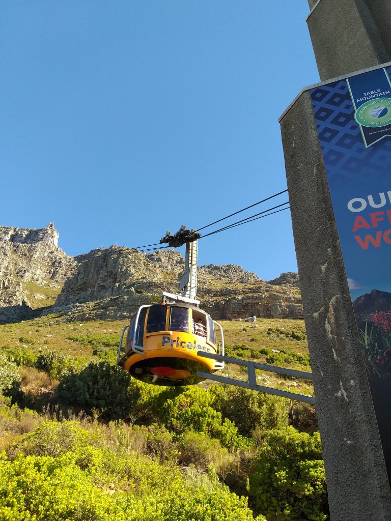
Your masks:
<svg viewBox="0 0 391 521"><path fill-rule="evenodd" d="M58 247L53 223L38 230L0 227L0 323L36 315L36 301L53 304L76 266Z"/></svg>

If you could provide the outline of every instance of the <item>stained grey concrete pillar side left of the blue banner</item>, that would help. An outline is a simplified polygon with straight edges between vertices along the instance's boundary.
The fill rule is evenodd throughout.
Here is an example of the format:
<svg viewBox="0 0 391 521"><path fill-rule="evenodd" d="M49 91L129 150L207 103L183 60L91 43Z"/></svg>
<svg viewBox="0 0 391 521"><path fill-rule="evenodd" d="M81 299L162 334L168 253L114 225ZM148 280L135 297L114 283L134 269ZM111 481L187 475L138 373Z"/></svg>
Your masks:
<svg viewBox="0 0 391 521"><path fill-rule="evenodd" d="M388 487L309 91L280 119L333 521L389 521Z"/></svg>

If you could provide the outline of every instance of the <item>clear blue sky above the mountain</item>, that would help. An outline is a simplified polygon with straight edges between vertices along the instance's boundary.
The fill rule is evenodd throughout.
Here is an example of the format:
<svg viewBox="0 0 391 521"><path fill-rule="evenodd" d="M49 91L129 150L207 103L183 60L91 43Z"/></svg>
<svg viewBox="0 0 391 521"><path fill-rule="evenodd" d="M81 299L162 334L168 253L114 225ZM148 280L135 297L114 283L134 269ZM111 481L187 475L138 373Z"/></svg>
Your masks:
<svg viewBox="0 0 391 521"><path fill-rule="evenodd" d="M54 221L77 255L158 242L284 190L278 117L319 81L308 11L305 0L3 0L0 224ZM199 262L264 279L296 270L289 212L205 238Z"/></svg>

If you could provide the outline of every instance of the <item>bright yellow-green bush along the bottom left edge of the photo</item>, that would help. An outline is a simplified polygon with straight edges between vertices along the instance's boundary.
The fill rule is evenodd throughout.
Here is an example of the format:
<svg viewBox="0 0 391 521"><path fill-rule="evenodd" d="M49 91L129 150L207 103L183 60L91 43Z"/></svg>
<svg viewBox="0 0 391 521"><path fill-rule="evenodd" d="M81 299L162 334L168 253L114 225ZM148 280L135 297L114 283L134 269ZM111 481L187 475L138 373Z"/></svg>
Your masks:
<svg viewBox="0 0 391 521"><path fill-rule="evenodd" d="M144 462L142 462L144 463ZM137 464L142 469L142 464ZM158 467L156 467L158 469ZM19 456L0 458L0 518L5 521L252 521L247 498L225 486L213 490L189 488L184 480L166 479L145 494L104 490L74 462L72 454L59 458ZM148 472L147 472L148 474ZM265 521L258 517L257 521Z"/></svg>

